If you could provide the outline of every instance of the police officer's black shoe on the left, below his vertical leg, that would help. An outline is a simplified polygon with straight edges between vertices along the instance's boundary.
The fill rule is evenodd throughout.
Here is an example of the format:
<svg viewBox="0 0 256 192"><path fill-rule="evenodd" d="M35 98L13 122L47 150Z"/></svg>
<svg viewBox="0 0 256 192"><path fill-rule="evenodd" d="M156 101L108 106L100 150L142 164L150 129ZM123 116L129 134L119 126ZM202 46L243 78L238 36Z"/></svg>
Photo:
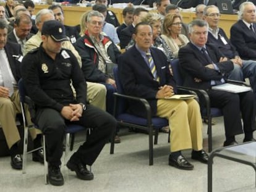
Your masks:
<svg viewBox="0 0 256 192"><path fill-rule="evenodd" d="M64 185L64 178L61 173L61 169L59 169L59 166L48 166L48 180L51 185L55 186L61 186Z"/></svg>

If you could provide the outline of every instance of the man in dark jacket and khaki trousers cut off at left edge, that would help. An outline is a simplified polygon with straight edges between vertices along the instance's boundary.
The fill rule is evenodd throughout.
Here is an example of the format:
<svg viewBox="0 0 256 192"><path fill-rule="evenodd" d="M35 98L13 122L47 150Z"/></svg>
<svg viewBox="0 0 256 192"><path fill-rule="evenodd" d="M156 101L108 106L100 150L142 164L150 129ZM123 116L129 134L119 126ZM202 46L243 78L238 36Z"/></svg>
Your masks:
<svg viewBox="0 0 256 192"><path fill-rule="evenodd" d="M0 122L10 149L13 169L22 169L22 157L18 150L20 134L15 123L16 114L21 112L17 89L17 82L21 77L21 60L22 52L19 44L7 42L7 23L0 20ZM26 112L27 117L30 117L27 110ZM33 125L29 118L27 123ZM40 131L33 129L30 134L34 139L34 147L37 148L40 146L41 136L38 135ZM43 161L43 158L39 159L40 157L38 152L33 153L33 161Z"/></svg>

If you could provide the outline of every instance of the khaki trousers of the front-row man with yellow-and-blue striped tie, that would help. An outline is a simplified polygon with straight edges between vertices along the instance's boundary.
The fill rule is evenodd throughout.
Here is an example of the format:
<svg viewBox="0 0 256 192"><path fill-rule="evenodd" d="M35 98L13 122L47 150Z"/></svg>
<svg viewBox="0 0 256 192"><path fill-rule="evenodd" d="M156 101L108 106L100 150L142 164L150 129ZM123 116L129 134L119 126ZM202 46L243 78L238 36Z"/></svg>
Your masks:
<svg viewBox="0 0 256 192"><path fill-rule="evenodd" d="M169 121L171 152L203 148L202 118L195 99L158 99L156 115Z"/></svg>

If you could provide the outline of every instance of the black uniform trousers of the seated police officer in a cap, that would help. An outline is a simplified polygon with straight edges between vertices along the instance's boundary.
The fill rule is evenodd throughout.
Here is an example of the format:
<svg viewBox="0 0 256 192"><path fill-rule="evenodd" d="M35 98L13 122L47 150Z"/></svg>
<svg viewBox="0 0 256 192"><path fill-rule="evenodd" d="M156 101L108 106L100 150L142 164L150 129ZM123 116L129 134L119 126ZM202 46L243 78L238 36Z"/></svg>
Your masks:
<svg viewBox="0 0 256 192"><path fill-rule="evenodd" d="M36 123L45 134L46 157L49 165L61 165L66 123L92 128L87 141L70 157L71 162L75 164L81 162L84 165L92 165L95 162L116 127L116 120L113 116L90 104L87 104L87 109L76 122L65 120L61 113L54 109L38 109Z"/></svg>

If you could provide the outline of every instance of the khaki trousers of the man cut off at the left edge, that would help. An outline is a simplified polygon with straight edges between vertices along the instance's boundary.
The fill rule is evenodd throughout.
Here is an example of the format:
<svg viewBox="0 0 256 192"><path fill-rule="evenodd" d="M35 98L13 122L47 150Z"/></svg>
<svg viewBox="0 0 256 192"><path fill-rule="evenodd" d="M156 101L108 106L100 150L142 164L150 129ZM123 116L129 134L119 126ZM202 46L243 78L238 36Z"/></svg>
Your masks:
<svg viewBox="0 0 256 192"><path fill-rule="evenodd" d="M11 98L0 97L0 122L9 149L12 147L13 144L20 141L20 134L16 126L17 113L21 113L20 96L19 91L15 89L14 94L12 94ZM28 112L27 106L25 107L25 113L27 116L27 124L33 125L30 120L30 114ZM30 128L30 135L32 136L33 140L38 134L41 134L40 130L36 128Z"/></svg>

